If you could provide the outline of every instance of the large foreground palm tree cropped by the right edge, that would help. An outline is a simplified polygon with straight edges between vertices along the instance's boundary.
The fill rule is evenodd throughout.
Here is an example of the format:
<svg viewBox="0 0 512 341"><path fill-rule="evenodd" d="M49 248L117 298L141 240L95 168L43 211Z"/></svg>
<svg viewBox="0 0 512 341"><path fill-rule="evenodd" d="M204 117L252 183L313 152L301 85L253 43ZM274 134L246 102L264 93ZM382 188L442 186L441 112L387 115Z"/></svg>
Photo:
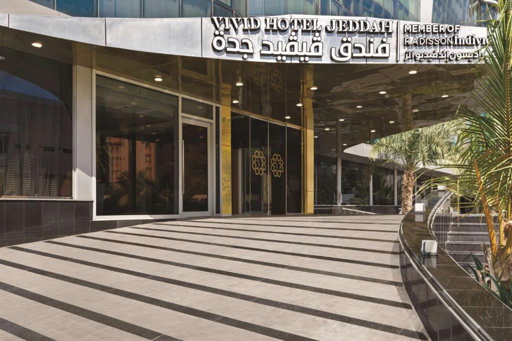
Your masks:
<svg viewBox="0 0 512 341"><path fill-rule="evenodd" d="M481 60L485 76L478 81L473 94L480 112L460 107L457 113L465 124L457 142L460 158L450 166L456 174L434 179L431 184L444 185L465 198L470 202L470 209L482 208L490 243L490 248L483 246L487 274L509 283L512 274L512 0L499 0L498 12L497 19L487 20L489 43ZM496 219L498 235L494 228Z"/></svg>

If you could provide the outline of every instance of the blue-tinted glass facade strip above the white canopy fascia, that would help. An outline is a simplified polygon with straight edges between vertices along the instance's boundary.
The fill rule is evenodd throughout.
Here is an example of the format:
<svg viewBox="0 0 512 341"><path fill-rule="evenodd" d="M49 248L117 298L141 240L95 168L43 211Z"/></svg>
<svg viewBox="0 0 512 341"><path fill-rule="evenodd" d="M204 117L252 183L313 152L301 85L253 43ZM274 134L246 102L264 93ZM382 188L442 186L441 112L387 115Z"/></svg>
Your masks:
<svg viewBox="0 0 512 341"><path fill-rule="evenodd" d="M420 0L31 0L71 16L175 18L284 14L368 16L419 21ZM434 0L432 22L485 25L496 16L481 0Z"/></svg>

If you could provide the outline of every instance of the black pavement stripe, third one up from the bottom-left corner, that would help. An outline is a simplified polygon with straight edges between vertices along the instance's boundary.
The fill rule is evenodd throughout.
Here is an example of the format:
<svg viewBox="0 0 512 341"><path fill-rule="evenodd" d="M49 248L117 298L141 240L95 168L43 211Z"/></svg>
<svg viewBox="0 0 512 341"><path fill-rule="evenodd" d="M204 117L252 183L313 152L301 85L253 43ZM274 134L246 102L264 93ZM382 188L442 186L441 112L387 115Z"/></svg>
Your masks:
<svg viewBox="0 0 512 341"><path fill-rule="evenodd" d="M211 313L208 311L183 306L180 304L176 304L176 303L172 303L172 302L168 302L168 301L164 301L164 300L159 300L159 299L141 295L141 294L138 294L135 292L117 289L114 287L110 287L110 286L106 286L106 285L102 285L102 284L98 284L98 283L94 283L94 282L89 282L89 281L81 280L81 279L75 278L75 277L57 274L56 272L46 271L46 270L42 270L42 269L38 269L38 268L32 268L30 266L26 266L23 264L17 264L17 263L5 261L5 260L0 260L0 263L7 265L7 266L15 267L18 269L22 269L25 271L29 271L29 272L32 272L33 274L38 274L41 276L54 278L56 280L60 280L63 282L81 285L81 286L84 286L87 288L91 288L91 289L95 289L98 291L102 291L102 292L110 293L110 294L117 295L120 297L124 297L126 299L130 299L130 300L134 300L134 301L138 301L138 302L142 302L142 303L146 303L146 304L151 304L151 305L161 307L164 309L173 310L173 311L177 311L177 312L180 312L183 314L199 317L200 319L205 319L205 320L221 323L223 325L240 328L240 329L245 329L245 330L251 331L253 333L258 333L258 334L278 338L280 340L315 341L314 339L309 338L309 337L304 337L301 335L284 332L284 331L281 331L278 329L255 325L255 324L252 324L249 322L232 319L231 317L227 317L227 316ZM1 282L0 282L0 288L2 288ZM24 289L22 289L22 290L24 290ZM52 299L50 299L50 300L52 300ZM112 317L110 317L110 318L112 319Z"/></svg>

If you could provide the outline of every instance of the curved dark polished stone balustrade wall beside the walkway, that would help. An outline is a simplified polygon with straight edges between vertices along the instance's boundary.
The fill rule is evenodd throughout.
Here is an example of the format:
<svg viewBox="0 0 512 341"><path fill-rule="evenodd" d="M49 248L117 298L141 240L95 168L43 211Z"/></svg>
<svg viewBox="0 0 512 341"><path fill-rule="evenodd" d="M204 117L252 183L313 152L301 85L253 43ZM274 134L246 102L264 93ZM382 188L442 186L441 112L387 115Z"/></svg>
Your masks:
<svg viewBox="0 0 512 341"><path fill-rule="evenodd" d="M399 231L402 281L425 329L433 340L510 340L511 309L441 247L437 256L421 254L421 241L434 239L429 217L438 209L432 205L424 213L410 211Z"/></svg>

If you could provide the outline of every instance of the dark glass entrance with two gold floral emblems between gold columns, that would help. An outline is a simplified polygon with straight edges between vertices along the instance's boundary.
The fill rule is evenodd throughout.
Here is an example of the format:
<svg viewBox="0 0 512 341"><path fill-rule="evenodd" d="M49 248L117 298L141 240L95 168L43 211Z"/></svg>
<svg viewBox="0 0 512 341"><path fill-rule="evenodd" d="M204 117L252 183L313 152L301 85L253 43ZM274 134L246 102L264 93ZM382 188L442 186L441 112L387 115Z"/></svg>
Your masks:
<svg viewBox="0 0 512 341"><path fill-rule="evenodd" d="M232 212L302 213L302 131L231 114Z"/></svg>

